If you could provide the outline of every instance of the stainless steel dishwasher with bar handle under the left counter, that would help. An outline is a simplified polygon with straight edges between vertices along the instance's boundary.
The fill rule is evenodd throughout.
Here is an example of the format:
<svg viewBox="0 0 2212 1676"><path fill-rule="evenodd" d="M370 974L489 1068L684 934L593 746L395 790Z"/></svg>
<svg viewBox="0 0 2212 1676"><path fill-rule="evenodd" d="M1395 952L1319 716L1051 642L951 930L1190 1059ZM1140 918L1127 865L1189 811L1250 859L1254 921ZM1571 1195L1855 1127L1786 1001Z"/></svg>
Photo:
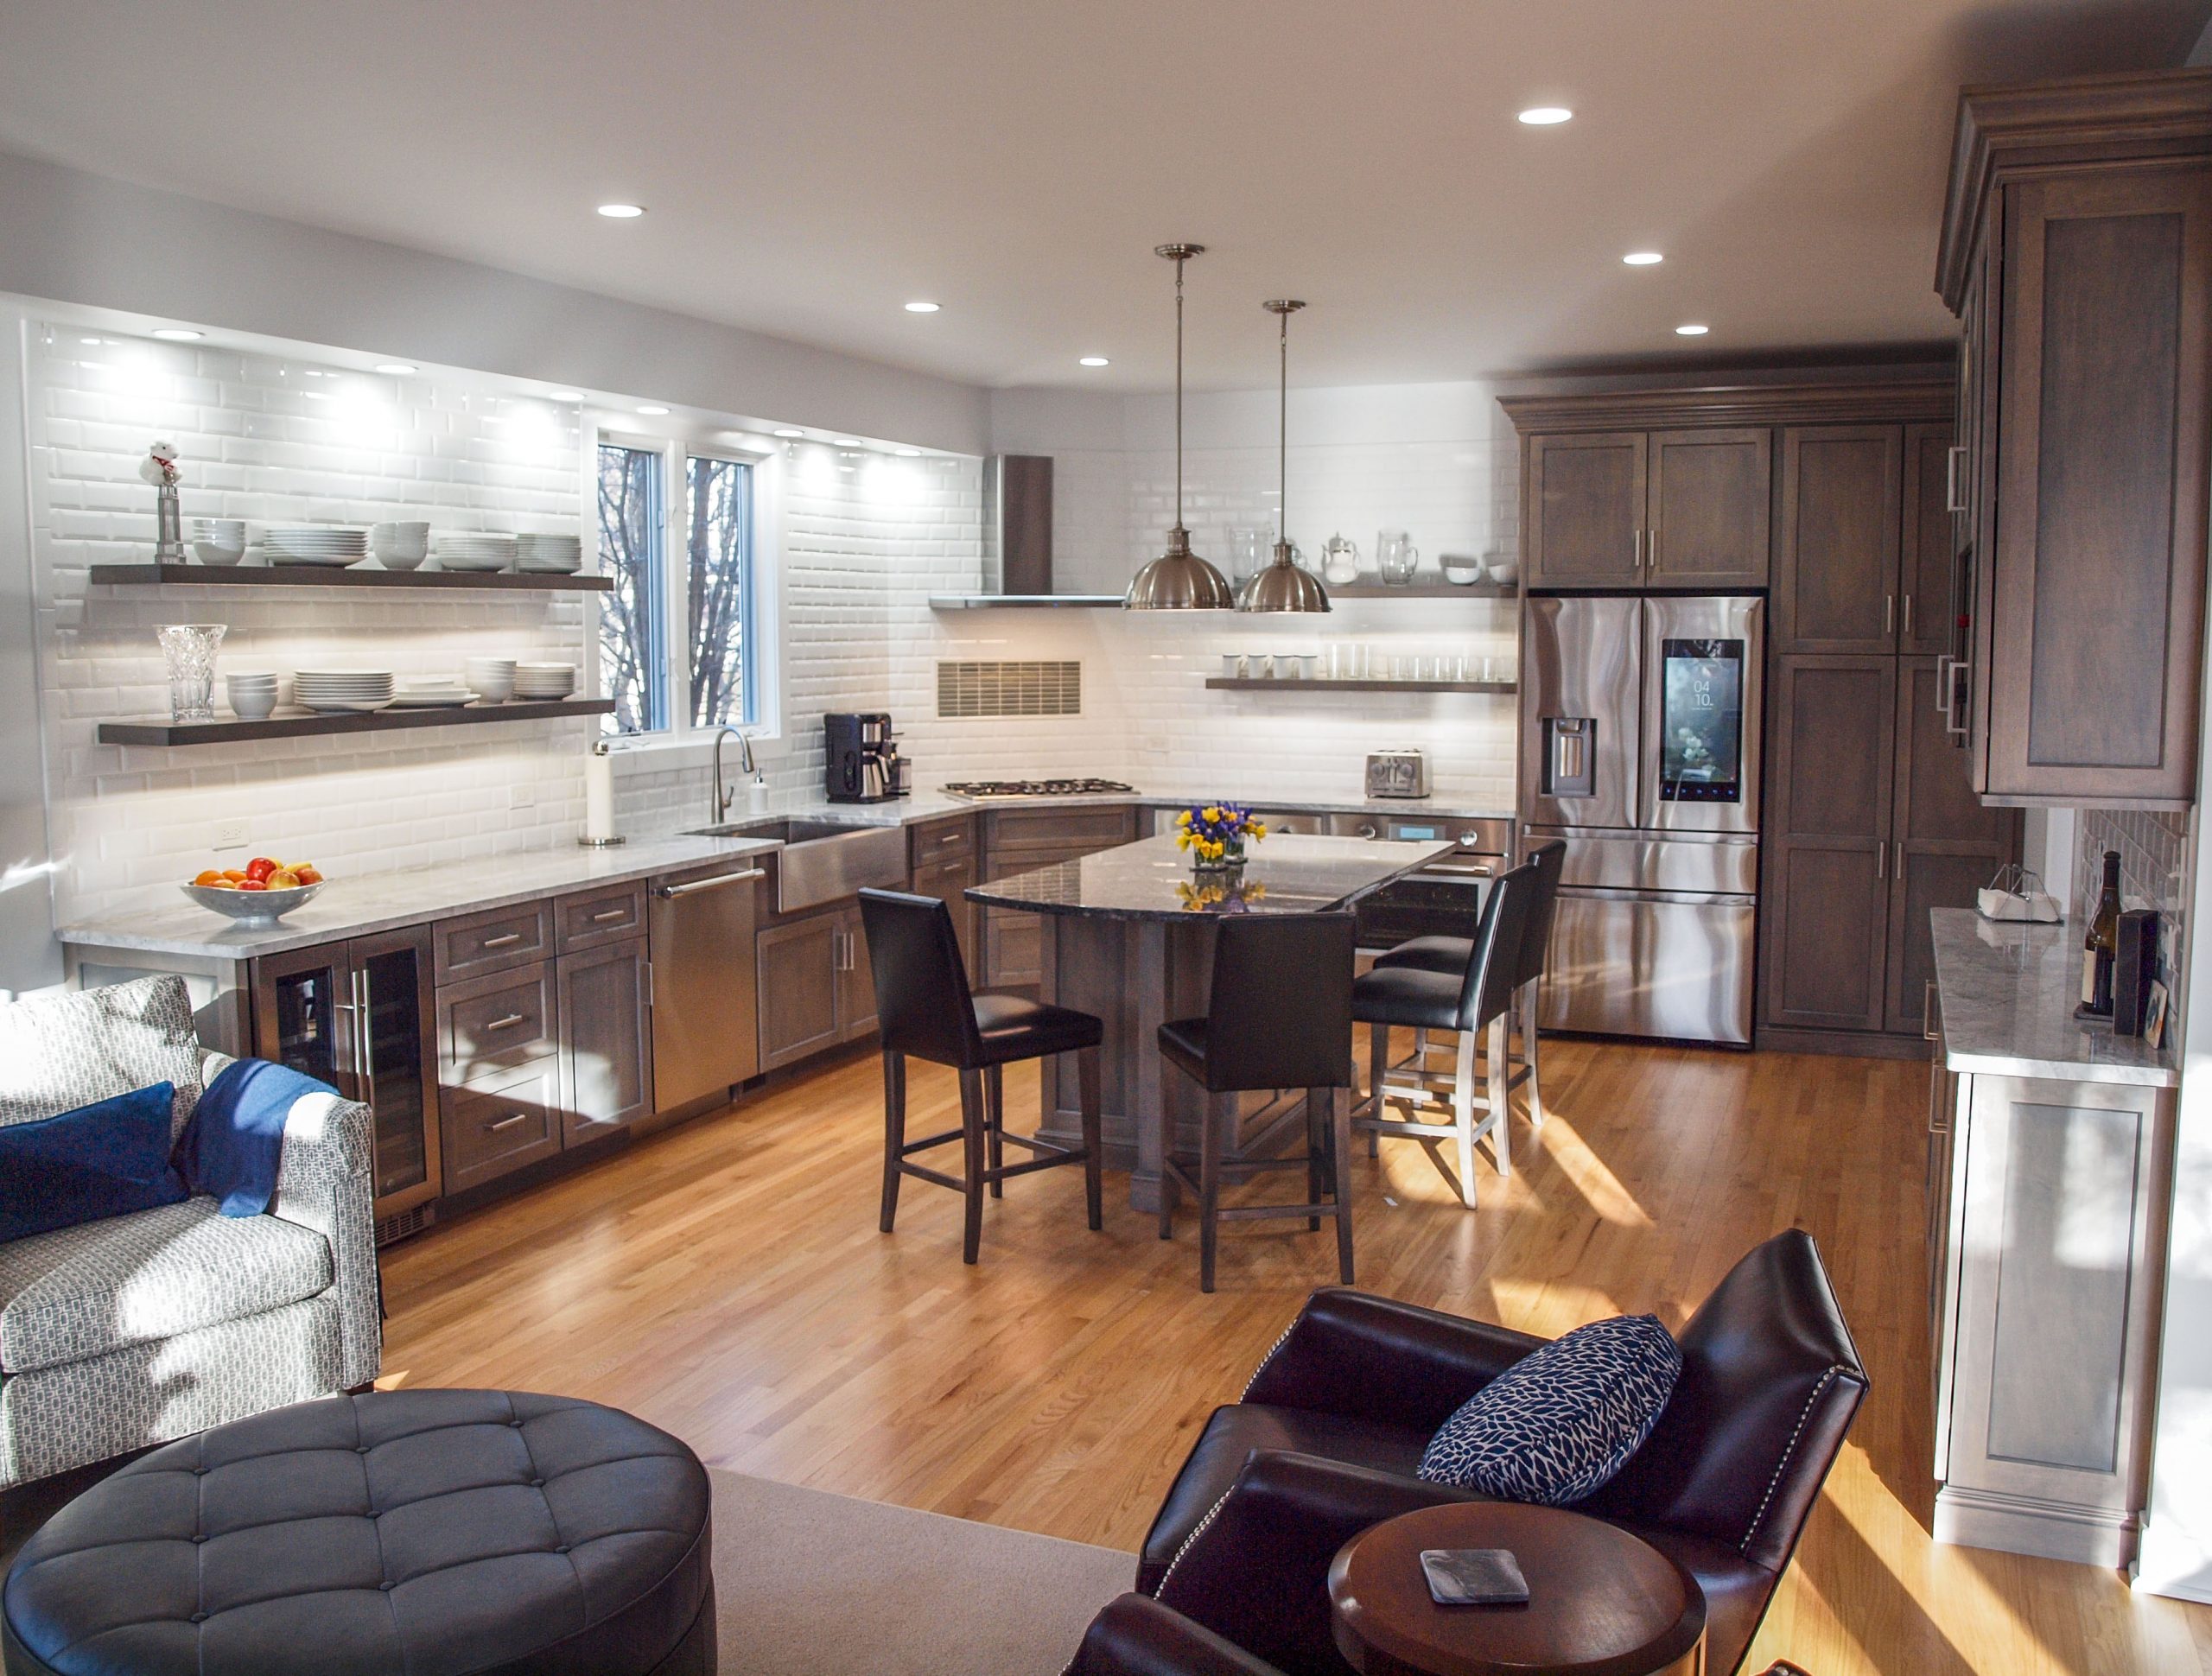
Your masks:
<svg viewBox="0 0 2212 1676"><path fill-rule="evenodd" d="M759 862L710 862L653 880L653 1103L661 1112L726 1097L761 1070L752 968Z"/></svg>

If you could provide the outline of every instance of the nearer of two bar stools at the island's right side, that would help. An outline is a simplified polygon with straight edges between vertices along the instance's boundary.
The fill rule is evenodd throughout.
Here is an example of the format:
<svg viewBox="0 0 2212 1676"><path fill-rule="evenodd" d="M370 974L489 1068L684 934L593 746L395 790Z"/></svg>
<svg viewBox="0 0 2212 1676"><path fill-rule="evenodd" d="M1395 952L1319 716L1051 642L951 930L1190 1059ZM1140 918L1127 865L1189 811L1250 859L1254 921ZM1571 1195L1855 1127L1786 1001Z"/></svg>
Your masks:
<svg viewBox="0 0 2212 1676"><path fill-rule="evenodd" d="M1462 971L1376 966L1352 986L1352 1017L1367 1026L1371 1090L1356 1128L1367 1132L1369 1150L1383 1136L1458 1141L1460 1198L1469 1209L1475 1207L1475 1141L1489 1134L1491 1150L1498 1154L1498 1174L1513 1174L1506 1134L1506 1013L1513 1006L1515 957L1528 924L1535 871L1535 862L1522 862L1491 884L1491 893L1482 902L1482 920L1467 944L1469 957ZM1398 1066L1389 1064L1391 1026L1422 1033L1413 1057ZM1449 1077L1429 1070L1427 1030L1458 1030L1460 1050ZM1486 1092L1475 1094L1475 1039L1484 1030L1489 1030ZM1389 1086L1394 1072L1407 1079L1396 1090ZM1387 1101L1394 1092L1427 1101L1436 1083L1447 1083L1451 1090L1451 1123L1387 1117ZM1480 1123L1475 1121L1478 1110L1482 1112Z"/></svg>

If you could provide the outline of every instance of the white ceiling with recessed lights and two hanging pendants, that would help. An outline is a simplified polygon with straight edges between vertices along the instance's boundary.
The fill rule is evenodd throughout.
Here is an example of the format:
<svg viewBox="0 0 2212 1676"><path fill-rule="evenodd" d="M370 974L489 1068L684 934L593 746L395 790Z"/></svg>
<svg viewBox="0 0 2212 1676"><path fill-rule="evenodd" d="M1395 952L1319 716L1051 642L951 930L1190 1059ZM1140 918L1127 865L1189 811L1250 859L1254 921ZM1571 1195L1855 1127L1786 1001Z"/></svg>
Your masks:
<svg viewBox="0 0 2212 1676"><path fill-rule="evenodd" d="M0 150L980 385L1157 389L1194 239L1197 385L1270 380L1285 292L1298 383L1409 383L1931 343L1960 82L2179 64L2208 11L0 0Z"/></svg>

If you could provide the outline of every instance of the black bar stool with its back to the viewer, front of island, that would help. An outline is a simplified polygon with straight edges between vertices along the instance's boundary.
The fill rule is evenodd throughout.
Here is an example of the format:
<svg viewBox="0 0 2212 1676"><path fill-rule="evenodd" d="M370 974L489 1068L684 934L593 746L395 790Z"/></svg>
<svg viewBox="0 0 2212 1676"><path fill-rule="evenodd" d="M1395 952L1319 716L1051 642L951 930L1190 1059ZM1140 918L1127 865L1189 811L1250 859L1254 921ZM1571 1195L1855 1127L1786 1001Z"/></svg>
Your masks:
<svg viewBox="0 0 2212 1676"><path fill-rule="evenodd" d="M1223 1221L1303 1216L1310 1229L1336 1218L1336 1267L1352 1285L1352 949L1354 915L1296 913L1223 918L1214 935L1214 980L1203 1019L1159 1026L1159 1052L1206 1090L1199 1156L1175 1152L1175 1123L1161 1117L1159 1238L1175 1236L1175 1187L1199 1201L1199 1291L1214 1289L1214 1249ZM1232 1163L1221 1159L1237 1128L1237 1094L1305 1090L1274 1114ZM1305 1152L1265 1156L1290 1123L1305 1123ZM1197 1167L1197 1179L1192 1179ZM1305 1170L1301 1205L1221 1205L1221 1181L1270 1170Z"/></svg>

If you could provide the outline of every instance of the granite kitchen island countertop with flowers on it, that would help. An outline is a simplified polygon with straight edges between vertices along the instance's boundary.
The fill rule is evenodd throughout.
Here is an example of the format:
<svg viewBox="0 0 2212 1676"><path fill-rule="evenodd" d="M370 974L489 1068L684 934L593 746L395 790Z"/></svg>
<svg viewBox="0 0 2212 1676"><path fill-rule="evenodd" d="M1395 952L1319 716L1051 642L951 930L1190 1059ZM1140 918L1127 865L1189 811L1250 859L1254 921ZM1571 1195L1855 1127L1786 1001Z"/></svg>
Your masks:
<svg viewBox="0 0 2212 1676"><path fill-rule="evenodd" d="M973 887L971 902L1031 913L1102 920L1181 920L1190 913L1316 913L1343 907L1376 884L1411 871L1451 845L1378 838L1318 838L1283 831L1252 845L1237 884L1190 871L1175 838L1139 838L1073 862L1013 873ZM1214 887L1214 889L1208 889ZM1214 893L1219 889L1219 895Z"/></svg>

